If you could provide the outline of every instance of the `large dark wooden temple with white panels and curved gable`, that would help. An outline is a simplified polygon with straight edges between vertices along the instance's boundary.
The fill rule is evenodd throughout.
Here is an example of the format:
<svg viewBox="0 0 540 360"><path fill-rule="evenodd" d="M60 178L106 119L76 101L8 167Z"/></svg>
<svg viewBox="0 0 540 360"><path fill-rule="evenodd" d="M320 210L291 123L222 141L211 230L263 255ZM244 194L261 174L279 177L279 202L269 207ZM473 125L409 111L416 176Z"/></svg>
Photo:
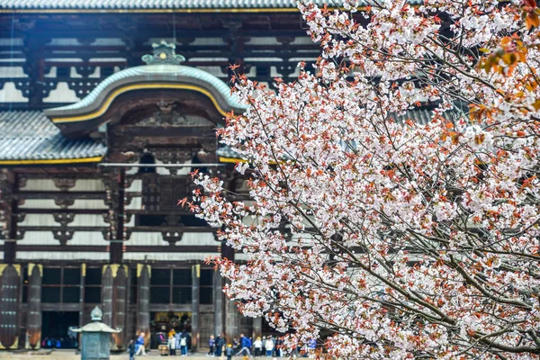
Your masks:
<svg viewBox="0 0 540 360"><path fill-rule="evenodd" d="M229 64L271 83L319 54L295 0L0 0L0 348L74 347L96 305L115 350L264 331L204 263L245 258L177 202L194 169L247 198Z"/></svg>

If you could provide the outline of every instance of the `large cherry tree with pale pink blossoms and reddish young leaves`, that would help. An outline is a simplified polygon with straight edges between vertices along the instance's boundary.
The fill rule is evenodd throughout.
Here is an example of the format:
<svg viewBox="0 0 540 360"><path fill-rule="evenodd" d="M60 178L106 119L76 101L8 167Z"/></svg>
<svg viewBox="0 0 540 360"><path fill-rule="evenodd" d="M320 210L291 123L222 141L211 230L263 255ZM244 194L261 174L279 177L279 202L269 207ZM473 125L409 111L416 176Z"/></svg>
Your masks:
<svg viewBox="0 0 540 360"><path fill-rule="evenodd" d="M225 292L319 356L539 358L536 2L369 3L301 2L317 64L232 79L253 201L194 174L191 203L248 258L211 259Z"/></svg>

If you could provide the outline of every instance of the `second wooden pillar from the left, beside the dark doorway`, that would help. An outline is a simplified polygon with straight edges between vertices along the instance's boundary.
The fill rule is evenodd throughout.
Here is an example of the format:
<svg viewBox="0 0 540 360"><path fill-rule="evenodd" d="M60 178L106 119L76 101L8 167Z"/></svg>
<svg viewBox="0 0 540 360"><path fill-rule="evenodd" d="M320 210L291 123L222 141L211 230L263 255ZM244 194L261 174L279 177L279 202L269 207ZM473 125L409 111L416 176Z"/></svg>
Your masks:
<svg viewBox="0 0 540 360"><path fill-rule="evenodd" d="M28 312L26 314L26 348L41 345L41 278L43 266L28 264Z"/></svg>

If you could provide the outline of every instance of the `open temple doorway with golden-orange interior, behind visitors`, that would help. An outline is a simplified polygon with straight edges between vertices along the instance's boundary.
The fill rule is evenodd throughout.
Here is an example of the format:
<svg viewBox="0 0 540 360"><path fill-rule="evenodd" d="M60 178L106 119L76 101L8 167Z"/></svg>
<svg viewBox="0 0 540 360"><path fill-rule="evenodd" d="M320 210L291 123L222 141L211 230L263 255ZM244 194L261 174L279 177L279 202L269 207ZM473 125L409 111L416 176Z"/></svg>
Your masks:
<svg viewBox="0 0 540 360"><path fill-rule="evenodd" d="M151 348L157 348L160 344L166 344L170 333L188 334L191 339L191 312L182 311L157 311L150 312L150 340ZM188 341L188 348L190 341Z"/></svg>

